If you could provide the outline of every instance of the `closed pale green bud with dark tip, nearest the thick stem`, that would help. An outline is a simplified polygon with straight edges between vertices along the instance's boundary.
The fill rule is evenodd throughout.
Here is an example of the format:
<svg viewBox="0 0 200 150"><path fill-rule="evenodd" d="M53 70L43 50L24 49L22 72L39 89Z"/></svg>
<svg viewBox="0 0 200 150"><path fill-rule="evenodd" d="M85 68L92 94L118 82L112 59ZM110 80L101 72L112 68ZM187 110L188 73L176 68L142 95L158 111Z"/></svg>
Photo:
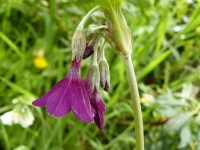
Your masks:
<svg viewBox="0 0 200 150"><path fill-rule="evenodd" d="M100 82L104 91L109 91L110 88L110 70L108 63L105 59L101 60L99 63L99 72L100 72Z"/></svg>

